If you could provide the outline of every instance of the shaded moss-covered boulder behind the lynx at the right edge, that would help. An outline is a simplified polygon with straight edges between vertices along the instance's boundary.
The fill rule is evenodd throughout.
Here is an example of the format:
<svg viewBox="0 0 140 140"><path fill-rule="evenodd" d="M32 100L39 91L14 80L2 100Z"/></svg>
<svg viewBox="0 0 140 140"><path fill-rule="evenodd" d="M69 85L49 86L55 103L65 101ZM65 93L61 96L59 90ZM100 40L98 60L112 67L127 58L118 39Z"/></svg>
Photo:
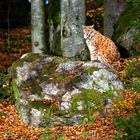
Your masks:
<svg viewBox="0 0 140 140"><path fill-rule="evenodd" d="M138 55L140 53L140 4L130 5L121 14L115 25L113 40L123 46L129 53Z"/></svg>

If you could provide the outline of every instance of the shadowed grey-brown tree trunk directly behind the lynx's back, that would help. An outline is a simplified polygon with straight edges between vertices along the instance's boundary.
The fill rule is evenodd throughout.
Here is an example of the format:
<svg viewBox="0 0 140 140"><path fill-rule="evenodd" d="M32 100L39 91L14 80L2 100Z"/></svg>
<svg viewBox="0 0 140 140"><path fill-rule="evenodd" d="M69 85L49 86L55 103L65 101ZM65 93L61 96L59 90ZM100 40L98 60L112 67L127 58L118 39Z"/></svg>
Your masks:
<svg viewBox="0 0 140 140"><path fill-rule="evenodd" d="M126 8L126 0L104 0L104 34L109 38L112 37L114 32L113 27L118 21L120 14Z"/></svg>

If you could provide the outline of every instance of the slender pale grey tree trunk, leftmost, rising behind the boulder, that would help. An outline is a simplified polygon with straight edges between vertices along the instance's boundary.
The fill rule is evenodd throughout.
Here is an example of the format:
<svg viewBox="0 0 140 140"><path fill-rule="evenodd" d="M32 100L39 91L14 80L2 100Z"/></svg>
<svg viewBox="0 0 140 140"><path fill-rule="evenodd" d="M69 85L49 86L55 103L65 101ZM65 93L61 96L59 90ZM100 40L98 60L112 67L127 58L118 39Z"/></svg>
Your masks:
<svg viewBox="0 0 140 140"><path fill-rule="evenodd" d="M44 0L31 1L32 52L42 53L45 42L45 3Z"/></svg>

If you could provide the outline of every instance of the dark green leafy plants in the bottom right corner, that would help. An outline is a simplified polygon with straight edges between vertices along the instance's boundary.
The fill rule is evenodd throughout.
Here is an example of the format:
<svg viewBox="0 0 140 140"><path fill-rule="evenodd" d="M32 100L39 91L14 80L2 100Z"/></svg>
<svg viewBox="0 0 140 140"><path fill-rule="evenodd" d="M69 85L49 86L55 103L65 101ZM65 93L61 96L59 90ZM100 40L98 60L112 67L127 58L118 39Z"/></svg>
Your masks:
<svg viewBox="0 0 140 140"><path fill-rule="evenodd" d="M114 119L115 127L118 130L116 140L139 140L140 139L140 102L135 101L136 106L129 114L129 117L123 118L117 116Z"/></svg>

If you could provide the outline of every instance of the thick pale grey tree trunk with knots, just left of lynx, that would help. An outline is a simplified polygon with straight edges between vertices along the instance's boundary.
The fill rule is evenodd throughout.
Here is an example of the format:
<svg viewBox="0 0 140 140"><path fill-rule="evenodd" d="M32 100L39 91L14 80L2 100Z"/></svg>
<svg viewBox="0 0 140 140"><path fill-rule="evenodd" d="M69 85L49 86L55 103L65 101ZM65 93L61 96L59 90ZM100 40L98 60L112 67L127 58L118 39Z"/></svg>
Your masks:
<svg viewBox="0 0 140 140"><path fill-rule="evenodd" d="M85 24L85 0L61 0L62 56L87 59L82 25Z"/></svg>

